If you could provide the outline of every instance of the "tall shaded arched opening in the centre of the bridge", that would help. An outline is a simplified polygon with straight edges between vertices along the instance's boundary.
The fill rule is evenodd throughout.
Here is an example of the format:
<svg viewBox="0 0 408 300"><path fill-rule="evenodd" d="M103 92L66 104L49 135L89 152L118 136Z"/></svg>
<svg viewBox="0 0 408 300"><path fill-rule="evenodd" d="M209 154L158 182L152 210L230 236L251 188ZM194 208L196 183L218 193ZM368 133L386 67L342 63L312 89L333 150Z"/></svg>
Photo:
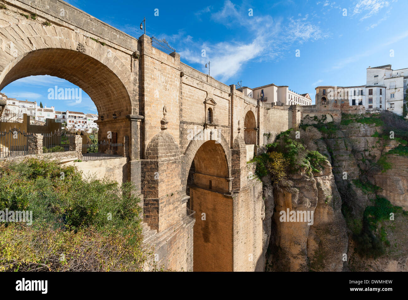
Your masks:
<svg viewBox="0 0 408 300"><path fill-rule="evenodd" d="M233 200L221 144L204 142L191 164L187 208L195 211L193 271L233 271Z"/></svg>

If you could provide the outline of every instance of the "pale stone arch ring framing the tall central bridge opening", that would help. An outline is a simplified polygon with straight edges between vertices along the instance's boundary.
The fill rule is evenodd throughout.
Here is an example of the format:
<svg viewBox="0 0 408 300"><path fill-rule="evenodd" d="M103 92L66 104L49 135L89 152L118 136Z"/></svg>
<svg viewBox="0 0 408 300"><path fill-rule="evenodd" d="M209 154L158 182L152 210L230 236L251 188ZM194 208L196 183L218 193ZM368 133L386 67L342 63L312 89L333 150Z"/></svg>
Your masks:
<svg viewBox="0 0 408 300"><path fill-rule="evenodd" d="M182 191L186 191L187 186L187 177L188 171L191 167L191 163L194 160L195 154L197 153L198 149L207 142L208 140L199 139L199 133L188 143L186 151L184 151L184 155L182 156L182 168L181 168L181 183L182 183ZM220 144L222 149L224 150L226 161L228 163L228 178L231 178L231 149L229 148L229 143L227 142L226 138L222 135L219 131L218 137L216 140L217 144Z"/></svg>

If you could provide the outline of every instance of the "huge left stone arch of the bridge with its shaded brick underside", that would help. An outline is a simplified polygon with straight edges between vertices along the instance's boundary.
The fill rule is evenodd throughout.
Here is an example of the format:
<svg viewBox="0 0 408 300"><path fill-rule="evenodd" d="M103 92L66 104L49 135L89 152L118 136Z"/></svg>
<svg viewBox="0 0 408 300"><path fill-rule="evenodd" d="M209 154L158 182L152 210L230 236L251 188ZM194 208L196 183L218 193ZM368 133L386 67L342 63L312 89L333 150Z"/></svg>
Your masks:
<svg viewBox="0 0 408 300"><path fill-rule="evenodd" d="M131 101L131 72L116 49L73 30L29 20L1 28L0 40L0 90L20 78L51 75L78 85L100 114L119 111L124 116L137 107Z"/></svg>

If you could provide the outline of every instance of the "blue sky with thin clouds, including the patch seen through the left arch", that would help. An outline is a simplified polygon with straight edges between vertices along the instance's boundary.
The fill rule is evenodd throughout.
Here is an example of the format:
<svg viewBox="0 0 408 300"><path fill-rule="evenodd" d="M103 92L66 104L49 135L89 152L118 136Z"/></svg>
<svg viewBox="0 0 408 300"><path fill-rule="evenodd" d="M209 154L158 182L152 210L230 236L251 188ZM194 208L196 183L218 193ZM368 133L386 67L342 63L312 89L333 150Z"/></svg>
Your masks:
<svg viewBox="0 0 408 300"><path fill-rule="evenodd" d="M365 84L368 66L408 67L406 0L68 2L136 38L146 16L147 35L166 38L183 62L204 73L211 61L210 75L228 85L239 80L248 87L288 85L314 100L318 85ZM73 86L60 78L35 76L2 92L57 110L96 112L85 93L81 103L48 100L48 88L54 85Z"/></svg>

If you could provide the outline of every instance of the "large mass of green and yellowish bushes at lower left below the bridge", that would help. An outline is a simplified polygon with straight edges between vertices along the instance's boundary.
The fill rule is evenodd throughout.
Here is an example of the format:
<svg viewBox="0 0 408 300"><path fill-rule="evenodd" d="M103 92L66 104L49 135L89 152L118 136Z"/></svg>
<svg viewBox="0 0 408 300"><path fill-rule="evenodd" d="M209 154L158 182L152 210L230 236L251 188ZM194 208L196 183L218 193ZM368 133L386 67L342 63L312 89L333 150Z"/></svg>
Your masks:
<svg viewBox="0 0 408 300"><path fill-rule="evenodd" d="M32 211L33 224L0 224L0 270L141 270L151 253L135 195L131 182L83 179L73 166L3 162L0 210Z"/></svg>

